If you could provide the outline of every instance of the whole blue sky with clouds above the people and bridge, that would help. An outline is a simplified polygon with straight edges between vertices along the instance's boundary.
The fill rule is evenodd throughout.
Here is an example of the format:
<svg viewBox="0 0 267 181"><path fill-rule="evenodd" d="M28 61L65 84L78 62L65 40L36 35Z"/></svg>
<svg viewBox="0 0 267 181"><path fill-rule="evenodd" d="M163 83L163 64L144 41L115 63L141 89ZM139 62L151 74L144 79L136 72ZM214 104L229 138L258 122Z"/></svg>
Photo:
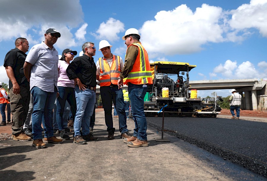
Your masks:
<svg viewBox="0 0 267 181"><path fill-rule="evenodd" d="M136 28L151 62L196 65L190 80L267 80L266 12L267 0L1 0L0 63L16 38L27 38L31 48L44 41L48 28L61 33L55 44L59 54L66 48L80 52L88 41L98 49L105 39L113 45L113 54L124 57L121 37L128 28ZM96 51L94 58L101 56ZM8 82L4 66L0 77ZM198 96L212 92L198 91Z"/></svg>

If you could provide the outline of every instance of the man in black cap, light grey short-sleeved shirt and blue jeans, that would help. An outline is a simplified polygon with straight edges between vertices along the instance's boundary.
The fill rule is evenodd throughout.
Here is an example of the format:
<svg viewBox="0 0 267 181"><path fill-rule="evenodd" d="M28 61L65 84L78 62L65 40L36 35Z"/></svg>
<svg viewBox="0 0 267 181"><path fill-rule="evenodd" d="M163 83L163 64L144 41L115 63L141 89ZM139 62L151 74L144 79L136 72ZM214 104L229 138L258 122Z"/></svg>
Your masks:
<svg viewBox="0 0 267 181"><path fill-rule="evenodd" d="M30 82L34 98L32 113L33 144L36 148L45 148L45 143L61 143L62 139L54 136L52 116L58 92L58 51L53 46L60 33L53 28L45 32L45 41L34 45L24 63L24 74ZM42 117L45 118L45 139L42 140Z"/></svg>

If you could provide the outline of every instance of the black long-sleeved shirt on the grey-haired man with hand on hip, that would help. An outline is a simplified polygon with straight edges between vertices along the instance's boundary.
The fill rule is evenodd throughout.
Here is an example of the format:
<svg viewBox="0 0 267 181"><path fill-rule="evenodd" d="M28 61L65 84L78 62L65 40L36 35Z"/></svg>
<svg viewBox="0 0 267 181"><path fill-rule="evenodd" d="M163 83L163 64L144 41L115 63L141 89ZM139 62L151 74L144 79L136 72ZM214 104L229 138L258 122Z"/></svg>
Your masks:
<svg viewBox="0 0 267 181"><path fill-rule="evenodd" d="M90 59L89 56L82 55L74 58L66 72L70 80L79 78L84 85L96 86L96 64L93 57Z"/></svg>

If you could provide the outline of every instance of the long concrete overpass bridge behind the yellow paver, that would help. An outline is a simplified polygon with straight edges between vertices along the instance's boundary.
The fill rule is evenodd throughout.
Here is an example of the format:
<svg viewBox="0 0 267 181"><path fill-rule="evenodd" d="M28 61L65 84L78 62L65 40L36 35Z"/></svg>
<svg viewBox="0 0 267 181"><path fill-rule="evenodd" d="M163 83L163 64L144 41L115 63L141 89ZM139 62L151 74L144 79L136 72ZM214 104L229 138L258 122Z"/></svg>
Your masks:
<svg viewBox="0 0 267 181"><path fill-rule="evenodd" d="M266 83L257 79L198 80L189 81L189 90L236 89L243 97L241 109L267 110ZM124 85L123 89L128 89L128 86ZM96 87L96 94L100 95L100 86Z"/></svg>

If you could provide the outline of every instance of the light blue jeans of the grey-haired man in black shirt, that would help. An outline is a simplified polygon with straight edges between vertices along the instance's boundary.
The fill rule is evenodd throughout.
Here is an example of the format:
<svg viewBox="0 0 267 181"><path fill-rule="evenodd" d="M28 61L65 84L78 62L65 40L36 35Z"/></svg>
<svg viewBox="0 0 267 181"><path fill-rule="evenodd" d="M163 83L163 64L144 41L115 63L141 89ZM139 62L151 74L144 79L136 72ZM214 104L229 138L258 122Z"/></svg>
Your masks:
<svg viewBox="0 0 267 181"><path fill-rule="evenodd" d="M82 135L88 135L90 133L90 118L93 115L94 105L96 104L96 93L90 89L80 90L78 86L74 90L77 103L77 111L74 118L74 137L81 135L81 126Z"/></svg>

